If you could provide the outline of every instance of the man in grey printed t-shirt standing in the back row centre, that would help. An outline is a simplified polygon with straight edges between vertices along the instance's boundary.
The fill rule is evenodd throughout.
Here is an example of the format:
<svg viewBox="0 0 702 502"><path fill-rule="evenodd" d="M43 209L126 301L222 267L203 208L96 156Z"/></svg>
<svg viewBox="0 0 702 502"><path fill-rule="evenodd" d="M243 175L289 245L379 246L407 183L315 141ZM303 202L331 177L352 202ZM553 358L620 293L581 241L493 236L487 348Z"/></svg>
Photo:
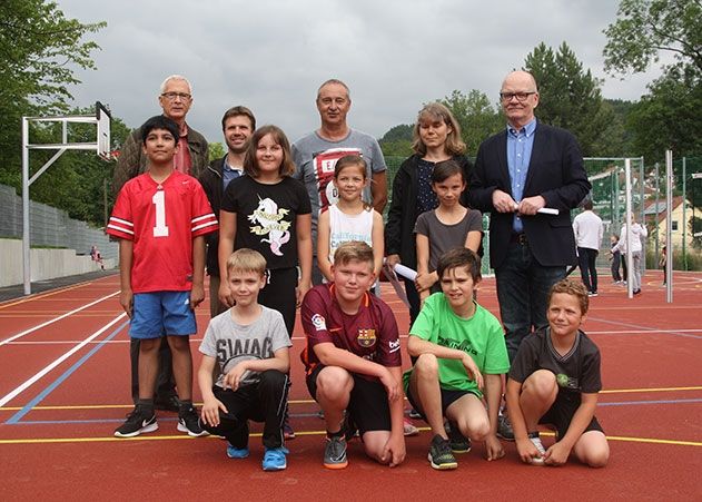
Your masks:
<svg viewBox="0 0 702 502"><path fill-rule="evenodd" d="M330 79L317 91L317 110L322 126L298 139L293 145L293 160L297 166L294 177L305 184L312 201L313 242L317 242L317 216L336 201L333 194L334 166L346 155L360 155L368 164L370 179L363 198L378 213L387 203L387 177L385 159L378 141L365 132L352 129L346 124L350 109L348 87L340 80ZM316 245L315 245L316 254ZM315 265L313 282L322 283L322 274Z"/></svg>

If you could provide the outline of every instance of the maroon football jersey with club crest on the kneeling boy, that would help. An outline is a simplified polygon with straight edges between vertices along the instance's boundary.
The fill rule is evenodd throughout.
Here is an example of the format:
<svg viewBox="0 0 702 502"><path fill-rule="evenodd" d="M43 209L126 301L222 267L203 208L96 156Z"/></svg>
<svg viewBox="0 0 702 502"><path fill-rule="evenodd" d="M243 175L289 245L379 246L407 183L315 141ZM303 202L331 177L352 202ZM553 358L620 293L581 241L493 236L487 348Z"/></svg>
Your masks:
<svg viewBox="0 0 702 502"><path fill-rule="evenodd" d="M334 285L313 287L300 308L307 348L301 354L307 373L319 363L313 347L329 342L338 348L393 367L402 365L399 334L393 311L377 296L366 293L356 315L342 312Z"/></svg>

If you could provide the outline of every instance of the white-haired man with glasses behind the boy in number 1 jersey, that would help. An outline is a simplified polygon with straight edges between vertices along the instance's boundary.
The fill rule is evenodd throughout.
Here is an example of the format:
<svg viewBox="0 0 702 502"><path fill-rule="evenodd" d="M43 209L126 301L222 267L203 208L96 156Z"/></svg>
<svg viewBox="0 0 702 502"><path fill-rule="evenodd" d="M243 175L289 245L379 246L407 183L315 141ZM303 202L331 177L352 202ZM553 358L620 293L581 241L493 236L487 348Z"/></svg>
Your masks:
<svg viewBox="0 0 702 502"><path fill-rule="evenodd" d="M190 176L199 176L207 167L209 152L205 137L186 124L186 116L190 110L190 106L192 106L192 87L188 79L180 75L167 77L161 83L158 102L164 110L164 115L178 124L180 129L178 152L174 159L176 169ZM119 157L117 157L117 166L115 166L112 179L112 191L115 195L119 193L125 183L145 171L147 157L141 145L140 128L131 131L125 139ZM135 404L139 400L139 344L140 341L138 338L131 338L131 397ZM154 395L155 405L158 410L178 411L179 402L175 386L170 348L167 343L161 343L159 371Z"/></svg>

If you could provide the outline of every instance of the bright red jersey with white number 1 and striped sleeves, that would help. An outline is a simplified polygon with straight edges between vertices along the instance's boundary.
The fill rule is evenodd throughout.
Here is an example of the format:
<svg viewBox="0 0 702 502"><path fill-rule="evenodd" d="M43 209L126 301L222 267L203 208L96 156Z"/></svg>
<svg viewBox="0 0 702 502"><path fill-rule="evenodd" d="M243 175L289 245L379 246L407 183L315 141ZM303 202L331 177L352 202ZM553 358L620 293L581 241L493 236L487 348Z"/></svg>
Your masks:
<svg viewBox="0 0 702 502"><path fill-rule="evenodd" d="M192 239L217 230L217 218L199 181L174 171L158 184L148 173L117 196L107 233L134 240L134 293L190 291Z"/></svg>

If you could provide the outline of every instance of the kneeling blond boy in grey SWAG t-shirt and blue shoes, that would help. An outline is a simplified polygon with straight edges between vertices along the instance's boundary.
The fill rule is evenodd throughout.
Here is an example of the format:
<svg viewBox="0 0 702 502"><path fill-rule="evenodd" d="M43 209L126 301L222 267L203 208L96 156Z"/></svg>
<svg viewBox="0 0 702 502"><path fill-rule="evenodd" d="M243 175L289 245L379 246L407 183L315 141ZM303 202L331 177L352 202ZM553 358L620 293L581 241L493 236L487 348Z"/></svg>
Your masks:
<svg viewBox="0 0 702 502"><path fill-rule="evenodd" d="M266 258L238 249L227 260L227 282L236 301L212 318L200 352L198 382L202 393L202 425L224 436L230 459L245 459L248 420L264 422L264 471L287 466L283 419L287 410L290 338L278 311L258 304L266 284ZM219 377L212 385L212 370Z"/></svg>

